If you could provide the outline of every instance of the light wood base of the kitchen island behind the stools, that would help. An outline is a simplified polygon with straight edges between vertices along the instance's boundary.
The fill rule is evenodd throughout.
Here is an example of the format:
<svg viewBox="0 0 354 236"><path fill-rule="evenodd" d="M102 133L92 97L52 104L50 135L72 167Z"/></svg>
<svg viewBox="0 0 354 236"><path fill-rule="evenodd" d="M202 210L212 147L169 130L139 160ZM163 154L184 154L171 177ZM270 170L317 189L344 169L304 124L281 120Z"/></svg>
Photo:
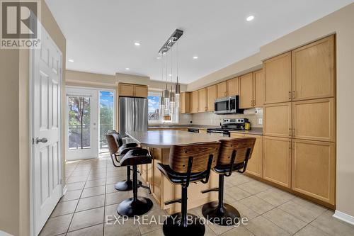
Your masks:
<svg viewBox="0 0 354 236"><path fill-rule="evenodd" d="M152 195L161 209L164 209L170 215L181 211L180 203L165 205L167 201L181 198L181 185L173 185L171 182L157 169L157 163L169 164L169 148L144 147L152 154L152 164L144 164L139 166L142 173L142 179L149 183ZM206 189L217 188L219 177L215 172L210 172L210 179L207 184L201 182L190 184L188 188L188 209L202 206L210 201L217 201L217 192L201 193Z"/></svg>

